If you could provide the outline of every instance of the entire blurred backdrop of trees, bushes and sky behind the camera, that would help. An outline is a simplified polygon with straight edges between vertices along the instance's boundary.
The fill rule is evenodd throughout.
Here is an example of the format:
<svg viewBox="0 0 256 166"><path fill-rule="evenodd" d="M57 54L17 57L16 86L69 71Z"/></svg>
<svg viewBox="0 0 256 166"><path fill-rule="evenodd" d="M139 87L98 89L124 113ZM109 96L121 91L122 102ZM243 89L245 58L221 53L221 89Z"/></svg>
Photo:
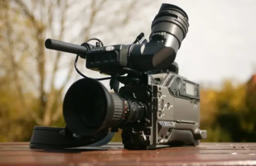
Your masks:
<svg viewBox="0 0 256 166"><path fill-rule="evenodd" d="M75 56L47 50L47 38L104 45L147 38L161 3L186 11L189 31L175 61L200 83L206 142L256 141L256 1L1 0L0 141L29 141L33 127L65 126L63 95L80 75ZM86 70L89 77L104 77ZM109 81L102 81L109 89ZM113 141L120 141L116 133Z"/></svg>

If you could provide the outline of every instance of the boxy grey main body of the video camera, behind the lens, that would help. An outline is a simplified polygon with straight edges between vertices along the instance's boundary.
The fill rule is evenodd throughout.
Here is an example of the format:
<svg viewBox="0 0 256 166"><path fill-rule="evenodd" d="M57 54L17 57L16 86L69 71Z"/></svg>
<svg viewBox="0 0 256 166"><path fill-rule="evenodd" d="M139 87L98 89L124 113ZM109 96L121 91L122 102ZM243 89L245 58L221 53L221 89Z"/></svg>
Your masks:
<svg viewBox="0 0 256 166"><path fill-rule="evenodd" d="M145 118L122 128L126 149L152 149L159 144L196 146L207 137L207 132L200 130L198 84L173 72L148 75L146 84L124 86L119 91L147 112Z"/></svg>

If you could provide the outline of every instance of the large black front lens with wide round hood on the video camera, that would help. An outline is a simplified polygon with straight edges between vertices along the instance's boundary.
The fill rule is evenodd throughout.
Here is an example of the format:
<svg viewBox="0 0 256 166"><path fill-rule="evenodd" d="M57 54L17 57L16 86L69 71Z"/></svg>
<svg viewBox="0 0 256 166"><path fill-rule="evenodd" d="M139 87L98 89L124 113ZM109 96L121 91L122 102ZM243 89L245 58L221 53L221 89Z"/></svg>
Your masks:
<svg viewBox="0 0 256 166"><path fill-rule="evenodd" d="M109 93L95 79L77 80L63 101L63 116L68 128L79 136L95 135L103 129L136 123L145 118L145 105Z"/></svg>

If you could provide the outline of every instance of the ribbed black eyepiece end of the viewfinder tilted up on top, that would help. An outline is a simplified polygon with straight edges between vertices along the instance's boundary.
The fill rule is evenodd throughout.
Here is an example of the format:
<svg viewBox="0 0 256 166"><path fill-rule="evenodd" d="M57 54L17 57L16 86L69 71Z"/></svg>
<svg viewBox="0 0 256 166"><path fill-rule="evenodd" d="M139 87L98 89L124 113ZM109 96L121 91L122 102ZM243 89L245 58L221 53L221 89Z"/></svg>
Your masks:
<svg viewBox="0 0 256 166"><path fill-rule="evenodd" d="M171 34L178 40L180 47L188 33L188 27L186 12L178 6L164 3L152 22L150 38L155 35L161 36L164 33Z"/></svg>

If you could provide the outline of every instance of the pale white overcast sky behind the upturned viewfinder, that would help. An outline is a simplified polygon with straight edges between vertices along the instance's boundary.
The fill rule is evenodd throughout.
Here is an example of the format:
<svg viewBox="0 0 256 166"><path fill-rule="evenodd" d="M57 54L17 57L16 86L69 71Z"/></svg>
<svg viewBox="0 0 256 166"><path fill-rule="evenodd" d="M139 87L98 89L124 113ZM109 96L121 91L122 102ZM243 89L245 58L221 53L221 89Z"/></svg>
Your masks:
<svg viewBox="0 0 256 166"><path fill-rule="evenodd" d="M256 1L253 0L148 1L147 6L136 6L138 14L127 26L98 37L108 38L105 45L129 44L141 32L148 37L162 3L179 6L189 17L188 34L175 59L180 75L218 86L223 79L245 82L256 73ZM97 72L84 71L90 77L100 77ZM108 81L103 83L108 87Z"/></svg>

